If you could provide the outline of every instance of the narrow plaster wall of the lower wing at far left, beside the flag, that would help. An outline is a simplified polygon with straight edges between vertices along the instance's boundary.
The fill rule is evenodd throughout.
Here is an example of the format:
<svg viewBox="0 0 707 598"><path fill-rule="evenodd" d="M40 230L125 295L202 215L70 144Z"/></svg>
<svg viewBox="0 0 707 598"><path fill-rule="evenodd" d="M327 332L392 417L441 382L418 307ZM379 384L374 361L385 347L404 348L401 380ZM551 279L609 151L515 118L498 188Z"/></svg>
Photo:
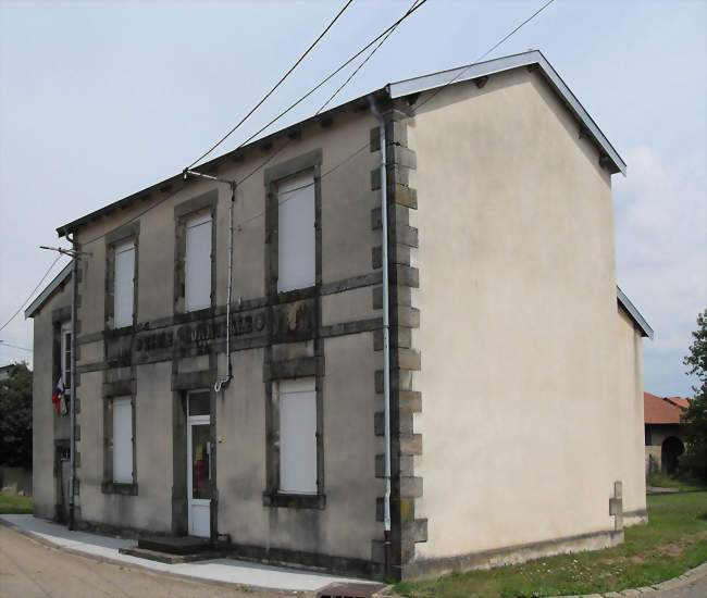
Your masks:
<svg viewBox="0 0 707 598"><path fill-rule="evenodd" d="M35 514L54 516L57 496L54 477L54 440L69 439L69 418L57 415L51 397L54 379L52 311L71 306L71 275L62 288L45 303L33 319L34 372L32 382L32 476Z"/></svg>

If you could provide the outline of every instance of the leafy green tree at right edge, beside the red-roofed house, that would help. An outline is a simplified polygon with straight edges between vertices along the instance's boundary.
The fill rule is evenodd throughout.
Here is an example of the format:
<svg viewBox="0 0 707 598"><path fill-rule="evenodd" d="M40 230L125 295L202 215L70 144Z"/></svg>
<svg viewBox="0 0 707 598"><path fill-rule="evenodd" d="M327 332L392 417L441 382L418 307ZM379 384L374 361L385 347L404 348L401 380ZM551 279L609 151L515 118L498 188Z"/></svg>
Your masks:
<svg viewBox="0 0 707 598"><path fill-rule="evenodd" d="M694 477L707 482L707 309L697 314L697 329L685 357L687 374L695 374L699 386L693 386L695 397L682 416L687 446L680 466Z"/></svg>

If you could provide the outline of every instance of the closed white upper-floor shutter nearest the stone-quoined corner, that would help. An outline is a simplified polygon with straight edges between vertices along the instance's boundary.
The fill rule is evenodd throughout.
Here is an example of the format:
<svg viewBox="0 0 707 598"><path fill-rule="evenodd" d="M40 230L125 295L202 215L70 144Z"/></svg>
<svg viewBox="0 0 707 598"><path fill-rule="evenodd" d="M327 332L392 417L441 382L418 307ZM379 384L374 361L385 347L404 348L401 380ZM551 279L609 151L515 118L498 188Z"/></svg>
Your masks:
<svg viewBox="0 0 707 598"><path fill-rule="evenodd" d="M277 189L277 290L315 282L314 176L298 175Z"/></svg>

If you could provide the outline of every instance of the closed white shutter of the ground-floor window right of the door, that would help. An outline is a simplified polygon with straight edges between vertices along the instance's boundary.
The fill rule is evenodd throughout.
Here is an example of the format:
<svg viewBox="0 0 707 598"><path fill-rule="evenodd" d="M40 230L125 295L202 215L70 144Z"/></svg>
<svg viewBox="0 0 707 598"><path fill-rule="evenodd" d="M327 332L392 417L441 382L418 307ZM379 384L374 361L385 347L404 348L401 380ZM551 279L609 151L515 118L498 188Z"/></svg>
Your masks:
<svg viewBox="0 0 707 598"><path fill-rule="evenodd" d="M280 383L280 491L317 494L314 378Z"/></svg>

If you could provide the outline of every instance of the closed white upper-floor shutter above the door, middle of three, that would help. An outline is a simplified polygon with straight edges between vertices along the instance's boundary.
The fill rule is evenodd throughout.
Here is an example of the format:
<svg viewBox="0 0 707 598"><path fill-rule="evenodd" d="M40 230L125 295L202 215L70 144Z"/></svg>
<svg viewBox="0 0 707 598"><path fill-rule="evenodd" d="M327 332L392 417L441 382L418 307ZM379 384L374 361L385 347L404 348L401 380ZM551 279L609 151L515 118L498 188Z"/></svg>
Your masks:
<svg viewBox="0 0 707 598"><path fill-rule="evenodd" d="M186 223L185 303L187 311L211 307L211 215Z"/></svg>

